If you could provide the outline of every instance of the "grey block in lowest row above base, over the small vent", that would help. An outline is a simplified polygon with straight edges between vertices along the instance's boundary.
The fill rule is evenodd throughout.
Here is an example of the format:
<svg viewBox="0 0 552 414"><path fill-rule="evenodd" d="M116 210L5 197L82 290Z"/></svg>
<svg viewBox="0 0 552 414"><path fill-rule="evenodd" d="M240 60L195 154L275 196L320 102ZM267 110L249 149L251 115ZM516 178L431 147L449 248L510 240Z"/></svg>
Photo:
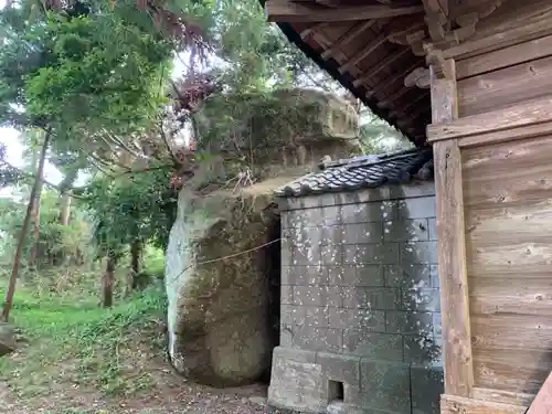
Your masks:
<svg viewBox="0 0 552 414"><path fill-rule="evenodd" d="M342 353L343 331L333 328L298 327L294 332L293 346L310 351Z"/></svg>

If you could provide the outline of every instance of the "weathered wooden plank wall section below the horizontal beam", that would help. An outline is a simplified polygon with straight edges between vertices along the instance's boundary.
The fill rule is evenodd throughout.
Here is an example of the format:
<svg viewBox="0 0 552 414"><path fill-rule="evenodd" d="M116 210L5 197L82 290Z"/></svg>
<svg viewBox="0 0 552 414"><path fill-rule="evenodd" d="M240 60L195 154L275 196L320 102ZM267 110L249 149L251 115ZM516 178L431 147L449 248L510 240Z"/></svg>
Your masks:
<svg viewBox="0 0 552 414"><path fill-rule="evenodd" d="M552 136L463 150L475 386L552 371Z"/></svg>

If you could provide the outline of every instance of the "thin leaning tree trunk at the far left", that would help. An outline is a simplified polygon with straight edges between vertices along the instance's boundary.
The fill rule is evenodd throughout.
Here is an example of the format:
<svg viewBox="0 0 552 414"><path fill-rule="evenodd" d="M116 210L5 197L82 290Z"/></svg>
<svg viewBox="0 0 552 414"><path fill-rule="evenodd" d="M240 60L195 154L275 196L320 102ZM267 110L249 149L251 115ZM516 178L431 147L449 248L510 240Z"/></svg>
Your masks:
<svg viewBox="0 0 552 414"><path fill-rule="evenodd" d="M21 229L21 235L19 236L18 248L15 251L15 256L13 257L13 268L11 270L10 282L8 285L8 291L6 293L6 301L2 309L2 320L9 321L10 310L13 306L13 295L15 294L15 283L19 276L19 268L21 267L21 256L23 254L23 247L26 241L26 233L29 232L29 225L31 223L31 213L34 208L34 202L36 200L36 193L39 192L40 184L42 182L42 174L44 173L44 163L46 160L46 151L50 146L50 140L52 138L52 132L46 131L44 137L44 142L42 144L42 150L40 153L39 168L36 171L36 178L34 179L34 185L31 190L31 198L29 200L29 205L26 206L25 217L23 220L23 226Z"/></svg>

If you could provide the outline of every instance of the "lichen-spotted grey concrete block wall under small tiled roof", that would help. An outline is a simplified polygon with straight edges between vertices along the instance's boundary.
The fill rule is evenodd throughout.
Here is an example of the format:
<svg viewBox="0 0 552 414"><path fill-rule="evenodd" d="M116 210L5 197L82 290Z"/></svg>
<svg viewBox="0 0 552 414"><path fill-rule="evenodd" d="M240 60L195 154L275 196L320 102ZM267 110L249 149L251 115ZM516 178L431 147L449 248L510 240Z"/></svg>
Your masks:
<svg viewBox="0 0 552 414"><path fill-rule="evenodd" d="M269 403L321 413L337 397L350 412L438 413L433 183L285 199L280 208L282 333Z"/></svg>

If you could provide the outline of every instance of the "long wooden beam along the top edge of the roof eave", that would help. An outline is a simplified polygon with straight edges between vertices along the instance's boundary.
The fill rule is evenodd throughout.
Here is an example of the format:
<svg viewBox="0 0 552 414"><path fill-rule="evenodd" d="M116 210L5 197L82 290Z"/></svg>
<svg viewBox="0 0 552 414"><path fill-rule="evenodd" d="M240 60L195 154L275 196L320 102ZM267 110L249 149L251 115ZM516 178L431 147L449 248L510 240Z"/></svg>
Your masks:
<svg viewBox="0 0 552 414"><path fill-rule="evenodd" d="M424 11L422 6L341 6L330 9L289 0L267 0L265 13L269 22L339 22L354 20L388 19L397 15L415 14Z"/></svg>

